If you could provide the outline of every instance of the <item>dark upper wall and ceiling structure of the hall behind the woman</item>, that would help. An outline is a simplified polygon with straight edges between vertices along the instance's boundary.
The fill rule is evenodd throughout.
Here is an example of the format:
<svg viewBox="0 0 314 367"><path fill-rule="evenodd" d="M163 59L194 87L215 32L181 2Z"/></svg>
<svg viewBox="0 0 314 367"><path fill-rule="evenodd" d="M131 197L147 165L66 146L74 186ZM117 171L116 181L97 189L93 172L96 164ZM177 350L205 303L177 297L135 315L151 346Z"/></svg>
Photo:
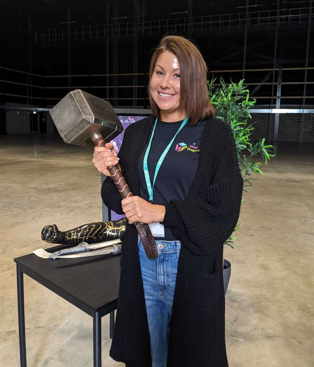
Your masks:
<svg viewBox="0 0 314 367"><path fill-rule="evenodd" d="M145 107L150 51L163 35L183 34L200 48L208 79L245 79L258 105L274 105L276 99L310 105L311 3L5 1L1 97L4 103L25 103L32 94L32 104L45 107L80 87L116 107Z"/></svg>

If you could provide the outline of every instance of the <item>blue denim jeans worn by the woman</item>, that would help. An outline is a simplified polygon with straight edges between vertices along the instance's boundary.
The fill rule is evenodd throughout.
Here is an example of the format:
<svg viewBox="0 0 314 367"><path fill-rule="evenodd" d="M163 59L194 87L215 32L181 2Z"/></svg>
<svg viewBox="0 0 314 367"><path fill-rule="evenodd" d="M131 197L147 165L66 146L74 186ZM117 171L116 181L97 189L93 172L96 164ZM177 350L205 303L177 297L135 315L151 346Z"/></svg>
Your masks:
<svg viewBox="0 0 314 367"><path fill-rule="evenodd" d="M152 367L166 367L169 324L181 242L155 241L158 257L148 259L140 237L137 238L151 342Z"/></svg>

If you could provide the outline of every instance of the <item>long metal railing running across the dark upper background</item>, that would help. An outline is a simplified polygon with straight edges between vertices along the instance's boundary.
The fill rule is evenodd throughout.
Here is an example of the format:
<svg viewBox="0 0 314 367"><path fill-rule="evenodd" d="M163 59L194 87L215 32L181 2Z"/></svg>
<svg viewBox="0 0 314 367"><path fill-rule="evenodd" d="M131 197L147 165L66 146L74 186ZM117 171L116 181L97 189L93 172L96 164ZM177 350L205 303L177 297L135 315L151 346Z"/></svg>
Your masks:
<svg viewBox="0 0 314 367"><path fill-rule="evenodd" d="M72 40L86 40L114 37L129 34L152 34L152 33L168 33L168 32L194 32L212 30L212 29L232 29L252 26L270 26L276 23L281 24L300 24L307 22L309 19L310 8L293 8L269 11L254 11L235 14L207 15L204 17L186 17L176 19L159 19L154 21L145 21L144 18L136 19L135 22L114 22L101 25L90 26L71 26L67 28L41 29L32 32L33 40L38 42L57 42L67 41L69 37ZM311 14L311 18L314 15Z"/></svg>

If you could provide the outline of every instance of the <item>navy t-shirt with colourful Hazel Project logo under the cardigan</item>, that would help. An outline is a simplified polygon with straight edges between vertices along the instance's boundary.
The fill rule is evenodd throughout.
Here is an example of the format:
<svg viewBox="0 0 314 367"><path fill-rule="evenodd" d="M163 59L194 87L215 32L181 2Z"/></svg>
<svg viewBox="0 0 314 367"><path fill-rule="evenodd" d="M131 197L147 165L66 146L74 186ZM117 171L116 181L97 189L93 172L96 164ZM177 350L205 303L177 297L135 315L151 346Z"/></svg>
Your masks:
<svg viewBox="0 0 314 367"><path fill-rule="evenodd" d="M147 166L151 185L153 185L156 164L181 126L183 120L177 122L165 122L157 120L151 149L147 158ZM169 203L170 200L185 200L189 188L195 177L200 152L200 139L205 120L200 120L195 126L188 121L178 133L174 142L163 160L158 171L153 190L153 203ZM144 176L143 160L151 138L152 130L138 162L139 194L149 201L147 185ZM154 237L155 240L175 241L176 237L171 233L170 227L165 226L165 237Z"/></svg>

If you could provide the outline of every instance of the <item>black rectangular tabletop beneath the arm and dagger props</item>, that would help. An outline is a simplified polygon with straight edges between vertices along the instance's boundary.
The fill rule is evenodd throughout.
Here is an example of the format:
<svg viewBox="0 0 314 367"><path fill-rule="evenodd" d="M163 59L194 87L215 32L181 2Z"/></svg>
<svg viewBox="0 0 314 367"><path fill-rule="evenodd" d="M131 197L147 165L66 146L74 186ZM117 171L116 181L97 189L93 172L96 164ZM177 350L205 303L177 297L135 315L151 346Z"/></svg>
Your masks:
<svg viewBox="0 0 314 367"><path fill-rule="evenodd" d="M48 252L69 246L58 245L45 249ZM121 255L97 255L95 257L43 259L28 254L14 261L19 270L43 284L84 312L93 316L117 308Z"/></svg>

